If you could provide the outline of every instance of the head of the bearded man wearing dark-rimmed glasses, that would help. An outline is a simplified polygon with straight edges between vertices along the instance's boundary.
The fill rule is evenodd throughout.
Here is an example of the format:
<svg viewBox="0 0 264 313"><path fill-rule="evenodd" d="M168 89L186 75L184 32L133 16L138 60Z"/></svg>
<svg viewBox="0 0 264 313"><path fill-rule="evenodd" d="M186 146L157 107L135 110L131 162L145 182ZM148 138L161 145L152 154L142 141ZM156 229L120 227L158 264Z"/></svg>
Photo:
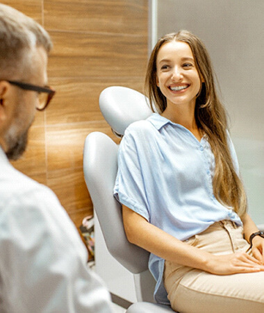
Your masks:
<svg viewBox="0 0 264 313"><path fill-rule="evenodd" d="M51 46L42 26L0 4L0 145L10 159L26 148L28 128L40 106L38 91L30 87L47 85Z"/></svg>

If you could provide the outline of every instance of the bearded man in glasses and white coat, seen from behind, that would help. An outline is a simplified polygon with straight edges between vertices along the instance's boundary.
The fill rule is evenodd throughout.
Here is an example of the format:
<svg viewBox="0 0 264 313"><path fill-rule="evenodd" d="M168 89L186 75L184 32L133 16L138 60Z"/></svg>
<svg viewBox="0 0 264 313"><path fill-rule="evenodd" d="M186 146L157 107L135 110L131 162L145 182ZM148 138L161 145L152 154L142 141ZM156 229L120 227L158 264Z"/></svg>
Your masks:
<svg viewBox="0 0 264 313"><path fill-rule="evenodd" d="M58 198L8 161L24 152L35 110L55 93L50 50L39 24L0 4L0 312L112 312Z"/></svg>

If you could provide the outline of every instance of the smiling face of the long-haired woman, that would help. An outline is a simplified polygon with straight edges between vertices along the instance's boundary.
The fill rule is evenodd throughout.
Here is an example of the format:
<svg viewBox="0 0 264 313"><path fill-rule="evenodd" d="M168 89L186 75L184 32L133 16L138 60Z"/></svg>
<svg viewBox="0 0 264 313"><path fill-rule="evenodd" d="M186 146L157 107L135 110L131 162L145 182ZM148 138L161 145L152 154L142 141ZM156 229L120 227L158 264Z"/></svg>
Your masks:
<svg viewBox="0 0 264 313"><path fill-rule="evenodd" d="M167 99L167 108L173 105L195 105L201 80L190 46L172 41L161 46L156 60L157 85Z"/></svg>

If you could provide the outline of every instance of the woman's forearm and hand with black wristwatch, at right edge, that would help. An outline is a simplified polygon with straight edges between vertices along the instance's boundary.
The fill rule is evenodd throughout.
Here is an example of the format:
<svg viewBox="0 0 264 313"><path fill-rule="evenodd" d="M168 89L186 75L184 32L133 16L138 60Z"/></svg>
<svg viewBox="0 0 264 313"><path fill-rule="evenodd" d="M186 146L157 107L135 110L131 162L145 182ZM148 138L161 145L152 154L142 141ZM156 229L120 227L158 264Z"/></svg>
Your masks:
<svg viewBox="0 0 264 313"><path fill-rule="evenodd" d="M247 213L241 218L241 220L244 226L245 239L249 242L250 235L254 232L258 232L258 228ZM264 238L256 236L252 239L252 254L261 262L261 264L264 264Z"/></svg>

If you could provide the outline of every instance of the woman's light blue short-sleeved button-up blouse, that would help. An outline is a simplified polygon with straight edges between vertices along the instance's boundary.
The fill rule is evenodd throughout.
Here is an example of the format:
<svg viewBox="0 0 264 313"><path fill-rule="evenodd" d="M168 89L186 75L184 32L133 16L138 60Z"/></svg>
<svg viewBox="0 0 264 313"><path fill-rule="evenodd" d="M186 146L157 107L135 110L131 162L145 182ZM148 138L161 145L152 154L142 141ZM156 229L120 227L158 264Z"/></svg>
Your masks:
<svg viewBox="0 0 264 313"><path fill-rule="evenodd" d="M229 147L238 171L231 139ZM206 136L199 142L187 128L154 113L126 128L119 147L114 195L149 223L186 240L215 223L240 218L213 195L215 158ZM163 286L164 260L151 254L158 303L169 303Z"/></svg>

